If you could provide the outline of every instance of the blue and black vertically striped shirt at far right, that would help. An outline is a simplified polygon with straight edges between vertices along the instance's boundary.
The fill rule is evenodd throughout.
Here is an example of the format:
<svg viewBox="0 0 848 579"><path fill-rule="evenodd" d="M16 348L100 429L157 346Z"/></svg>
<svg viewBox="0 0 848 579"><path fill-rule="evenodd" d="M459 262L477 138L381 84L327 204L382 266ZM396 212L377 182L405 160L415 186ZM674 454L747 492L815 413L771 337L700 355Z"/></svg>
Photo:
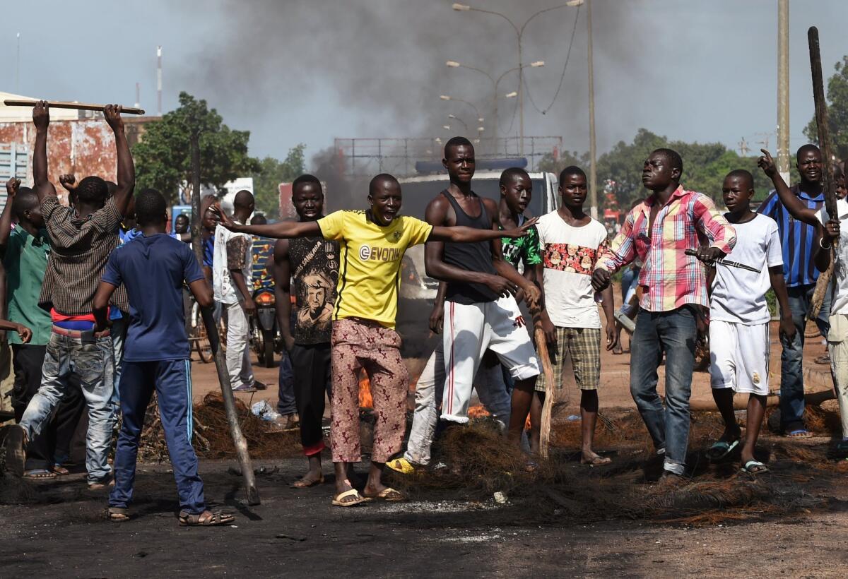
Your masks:
<svg viewBox="0 0 848 579"><path fill-rule="evenodd" d="M797 185L789 188L808 209L821 209L824 203L824 193L815 197L800 191ZM777 192L770 192L760 205L757 213L767 215L778 222L780 247L784 253L784 278L786 287L806 286L816 283L818 270L812 261L812 244L816 237L816 228L806 225L803 221L795 220L783 203L780 203Z"/></svg>

